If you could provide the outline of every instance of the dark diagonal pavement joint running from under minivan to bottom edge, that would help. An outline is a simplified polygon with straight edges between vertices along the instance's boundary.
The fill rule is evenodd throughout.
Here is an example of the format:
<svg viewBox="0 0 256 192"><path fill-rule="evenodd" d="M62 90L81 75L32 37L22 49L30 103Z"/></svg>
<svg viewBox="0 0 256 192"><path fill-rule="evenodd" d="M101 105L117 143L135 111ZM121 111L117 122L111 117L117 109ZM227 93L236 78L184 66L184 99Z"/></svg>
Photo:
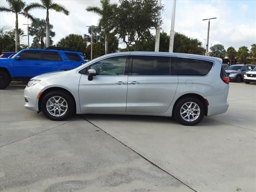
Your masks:
<svg viewBox="0 0 256 192"><path fill-rule="evenodd" d="M81 116L81 115L80 115ZM118 140L117 138L115 138L114 136L112 136L111 134L109 134L108 132L104 131L102 128L96 126L94 123L90 122L89 120L87 120L86 118L84 118L83 116L81 116L84 120L86 120L87 122L89 122L90 124L92 124L93 126L99 128L100 130L102 130L104 133L108 134L109 136L111 136L112 138L114 138L115 140L117 140L118 142L120 142L121 144L123 144L124 146L126 146L127 148L129 148L130 150L132 150L133 152L135 152L136 154L138 154L139 156L141 156L142 158L144 158L146 161L150 162L152 165L156 166L157 168L159 168L160 170L162 170L163 172L167 173L168 175L172 176L173 178L175 178L176 180L178 180L179 182L181 182L182 184L184 184L185 186L187 186L188 188L190 188L191 190L193 190L194 192L198 192L195 189L193 189L192 187L190 187L188 184L186 184L185 182L183 182L182 180L180 180L179 178L177 178L176 176L170 174L168 171L164 170L164 168L161 168L160 166L158 166L157 164L155 164L154 162L150 161L148 158L144 157L142 154L140 154L139 152L137 152L136 150L130 148L129 146L127 146L126 144L124 144L122 141Z"/></svg>

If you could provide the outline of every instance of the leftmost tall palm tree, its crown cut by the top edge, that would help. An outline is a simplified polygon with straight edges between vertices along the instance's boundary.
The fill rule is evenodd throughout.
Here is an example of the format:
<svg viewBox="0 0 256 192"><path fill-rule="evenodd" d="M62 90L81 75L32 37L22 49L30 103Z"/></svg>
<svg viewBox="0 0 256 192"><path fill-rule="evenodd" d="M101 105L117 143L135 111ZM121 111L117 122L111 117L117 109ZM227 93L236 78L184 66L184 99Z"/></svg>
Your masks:
<svg viewBox="0 0 256 192"><path fill-rule="evenodd" d="M8 7L0 6L0 12L10 12L14 13L16 16L16 21L15 21L15 51L18 52L18 42L19 42L19 34L18 34L18 15L23 15L25 16L26 12L23 10L24 7L26 6L26 3L23 0L6 0L6 2L9 5ZM33 16L30 14L27 14L28 18L33 20Z"/></svg>

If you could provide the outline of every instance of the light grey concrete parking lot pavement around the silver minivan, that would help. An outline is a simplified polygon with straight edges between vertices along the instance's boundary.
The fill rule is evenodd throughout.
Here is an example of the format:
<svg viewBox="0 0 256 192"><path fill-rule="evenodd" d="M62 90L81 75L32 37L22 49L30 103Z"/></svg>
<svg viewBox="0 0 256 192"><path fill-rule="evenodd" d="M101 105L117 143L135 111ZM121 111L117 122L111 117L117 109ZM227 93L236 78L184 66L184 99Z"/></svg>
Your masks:
<svg viewBox="0 0 256 192"><path fill-rule="evenodd" d="M230 83L224 114L182 126L156 116L46 119L24 85L0 91L3 192L255 192L256 84Z"/></svg>

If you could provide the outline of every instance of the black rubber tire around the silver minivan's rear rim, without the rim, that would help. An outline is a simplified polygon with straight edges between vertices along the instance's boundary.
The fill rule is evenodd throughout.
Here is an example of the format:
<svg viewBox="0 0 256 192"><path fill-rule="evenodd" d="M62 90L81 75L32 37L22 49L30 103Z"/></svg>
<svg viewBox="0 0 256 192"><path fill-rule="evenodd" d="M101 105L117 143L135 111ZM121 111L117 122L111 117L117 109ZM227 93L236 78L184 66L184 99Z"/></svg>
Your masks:
<svg viewBox="0 0 256 192"><path fill-rule="evenodd" d="M184 120L182 118L182 115L180 114L182 106L184 104L186 104L187 102L193 102L193 103L197 104L199 109L200 109L199 116L195 120L193 120L193 121ZM194 126L194 125L198 124L204 118L204 111L205 111L204 104L202 104L202 102L199 99L197 99L195 97L188 97L188 98L183 98L183 99L178 101L178 103L175 106L174 116L175 116L175 119L178 122L180 122L180 124L186 125L186 126ZM189 115L189 117L192 117L192 116Z"/></svg>

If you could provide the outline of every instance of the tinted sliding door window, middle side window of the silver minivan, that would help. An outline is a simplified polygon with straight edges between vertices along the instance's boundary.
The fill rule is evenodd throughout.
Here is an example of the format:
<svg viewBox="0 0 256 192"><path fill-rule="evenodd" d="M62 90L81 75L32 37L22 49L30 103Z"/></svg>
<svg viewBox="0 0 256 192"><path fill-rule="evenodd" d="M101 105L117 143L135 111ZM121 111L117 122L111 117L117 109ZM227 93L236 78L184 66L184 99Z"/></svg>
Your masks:
<svg viewBox="0 0 256 192"><path fill-rule="evenodd" d="M132 75L170 75L170 57L133 56Z"/></svg>

